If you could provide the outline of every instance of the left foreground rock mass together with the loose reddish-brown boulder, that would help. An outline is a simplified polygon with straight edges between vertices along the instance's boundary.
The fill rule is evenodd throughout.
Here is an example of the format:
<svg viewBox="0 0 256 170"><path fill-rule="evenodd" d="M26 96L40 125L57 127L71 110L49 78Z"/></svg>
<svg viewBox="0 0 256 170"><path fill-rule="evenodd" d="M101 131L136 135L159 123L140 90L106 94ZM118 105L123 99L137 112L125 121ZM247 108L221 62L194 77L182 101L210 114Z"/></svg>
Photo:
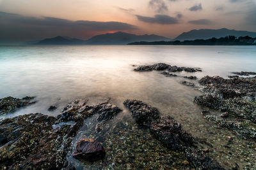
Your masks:
<svg viewBox="0 0 256 170"><path fill-rule="evenodd" d="M120 111L108 101L87 106L76 100L57 117L31 113L1 120L0 169L74 169L66 156L84 119L99 114L102 123ZM74 123L68 124L70 121ZM103 159L106 152L99 142L81 139L73 155L94 161Z"/></svg>

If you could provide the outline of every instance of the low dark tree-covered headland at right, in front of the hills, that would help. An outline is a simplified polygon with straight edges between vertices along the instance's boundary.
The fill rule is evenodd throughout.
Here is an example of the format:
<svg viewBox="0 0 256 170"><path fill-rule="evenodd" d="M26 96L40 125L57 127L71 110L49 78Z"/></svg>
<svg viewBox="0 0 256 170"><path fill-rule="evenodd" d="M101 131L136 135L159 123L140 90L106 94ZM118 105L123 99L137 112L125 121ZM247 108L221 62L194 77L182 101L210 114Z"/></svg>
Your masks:
<svg viewBox="0 0 256 170"><path fill-rule="evenodd" d="M256 45L256 38L244 36L236 38L236 36L226 36L211 39L195 39L191 41L140 41L129 43L128 45Z"/></svg>

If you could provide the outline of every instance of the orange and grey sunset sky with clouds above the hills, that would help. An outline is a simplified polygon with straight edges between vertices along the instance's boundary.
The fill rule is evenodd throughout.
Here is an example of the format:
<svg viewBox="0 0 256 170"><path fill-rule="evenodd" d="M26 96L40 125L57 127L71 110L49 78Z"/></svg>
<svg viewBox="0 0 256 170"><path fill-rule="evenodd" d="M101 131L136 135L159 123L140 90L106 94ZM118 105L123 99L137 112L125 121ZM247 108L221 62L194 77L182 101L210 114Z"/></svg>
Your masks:
<svg viewBox="0 0 256 170"><path fill-rule="evenodd" d="M191 29L256 32L256 0L0 0L0 43L123 31L175 38Z"/></svg>

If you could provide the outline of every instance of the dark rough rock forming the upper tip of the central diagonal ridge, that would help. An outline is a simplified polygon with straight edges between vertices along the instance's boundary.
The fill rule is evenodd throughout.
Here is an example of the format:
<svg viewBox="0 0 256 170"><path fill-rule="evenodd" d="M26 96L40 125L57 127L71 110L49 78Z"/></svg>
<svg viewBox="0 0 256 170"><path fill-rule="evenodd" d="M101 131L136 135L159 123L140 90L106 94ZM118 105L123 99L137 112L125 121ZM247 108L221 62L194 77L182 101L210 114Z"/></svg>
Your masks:
<svg viewBox="0 0 256 170"><path fill-rule="evenodd" d="M159 117L157 108L137 100L126 100L124 105L131 111L132 117L138 124L150 127L151 122Z"/></svg>

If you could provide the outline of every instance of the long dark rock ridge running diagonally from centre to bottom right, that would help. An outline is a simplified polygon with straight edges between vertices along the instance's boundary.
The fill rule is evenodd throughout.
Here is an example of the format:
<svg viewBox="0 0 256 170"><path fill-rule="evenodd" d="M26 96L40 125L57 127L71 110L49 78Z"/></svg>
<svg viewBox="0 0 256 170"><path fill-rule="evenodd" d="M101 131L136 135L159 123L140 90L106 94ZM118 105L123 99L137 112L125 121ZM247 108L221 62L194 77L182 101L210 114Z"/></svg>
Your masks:
<svg viewBox="0 0 256 170"><path fill-rule="evenodd" d="M126 100L124 105L138 124L150 128L152 134L168 148L183 150L196 169L223 169L206 152L193 146L195 139L172 117L160 117L157 108L142 101Z"/></svg>

